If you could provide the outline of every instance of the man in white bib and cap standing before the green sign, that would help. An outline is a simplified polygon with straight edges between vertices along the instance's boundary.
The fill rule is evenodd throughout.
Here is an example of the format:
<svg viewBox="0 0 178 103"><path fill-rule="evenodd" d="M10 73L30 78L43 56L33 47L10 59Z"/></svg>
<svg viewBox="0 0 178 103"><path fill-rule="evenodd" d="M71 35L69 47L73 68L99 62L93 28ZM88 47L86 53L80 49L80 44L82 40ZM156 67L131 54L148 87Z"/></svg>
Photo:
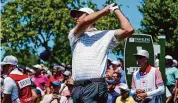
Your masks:
<svg viewBox="0 0 178 103"><path fill-rule="evenodd" d="M160 103L159 95L164 93L164 83L159 69L149 65L148 51L138 50L134 56L138 66L140 66L140 69L135 71L132 77L132 90L135 91L135 100Z"/></svg>

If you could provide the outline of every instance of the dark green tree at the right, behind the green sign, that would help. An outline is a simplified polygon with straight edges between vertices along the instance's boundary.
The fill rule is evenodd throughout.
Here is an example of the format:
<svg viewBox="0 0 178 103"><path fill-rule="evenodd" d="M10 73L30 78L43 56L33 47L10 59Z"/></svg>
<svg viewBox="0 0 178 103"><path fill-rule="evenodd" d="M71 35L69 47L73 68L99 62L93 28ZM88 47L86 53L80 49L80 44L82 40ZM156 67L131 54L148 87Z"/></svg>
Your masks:
<svg viewBox="0 0 178 103"><path fill-rule="evenodd" d="M157 42L158 35L166 36L166 54L178 59L178 1L144 0L139 7L143 13L141 31L153 36ZM163 31L162 31L163 30ZM162 31L162 32L161 32Z"/></svg>

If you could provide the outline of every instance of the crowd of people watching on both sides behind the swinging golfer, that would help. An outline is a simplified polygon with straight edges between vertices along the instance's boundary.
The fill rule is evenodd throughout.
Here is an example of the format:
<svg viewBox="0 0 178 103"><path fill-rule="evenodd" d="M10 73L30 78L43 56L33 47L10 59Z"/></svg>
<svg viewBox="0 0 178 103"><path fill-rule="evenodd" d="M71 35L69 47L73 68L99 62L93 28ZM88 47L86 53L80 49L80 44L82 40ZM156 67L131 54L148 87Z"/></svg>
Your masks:
<svg viewBox="0 0 178 103"><path fill-rule="evenodd" d="M138 62L147 60L149 57L144 55L135 55ZM143 60L142 60L143 59ZM108 88L108 99L107 103L160 103L151 102L154 99L158 99L159 95L166 93L166 103L177 103L178 102L178 69L177 61L172 56L167 55L166 60L166 82L165 85L159 74L159 68L152 67L151 70L156 72L155 82L157 88L152 93L149 90L145 91L141 88L140 81L134 79L134 75L138 76L137 72L134 72L132 78L132 86L128 87L126 82L126 75L123 67L123 59L112 60L108 58L108 65L105 75ZM3 64L5 63L5 64ZM144 64L141 64L144 67ZM147 64L146 64L147 65ZM147 67L146 69L148 69ZM153 69L154 68L154 69ZM150 72L150 71L148 71ZM17 79L18 76L14 74L23 74L30 78L31 83L28 85L26 80L23 84ZM1 62L1 102L11 103L12 101L18 101L17 98L21 98L23 94L21 88L30 86L30 89L26 89L27 92L31 92L31 99L28 99L29 103L73 103L72 101L72 88L74 87L71 79L72 68L70 65L64 64L52 64L49 68L44 64L35 64L31 67L25 67L18 64L18 60L14 56L6 56ZM141 74L140 74L141 75ZM147 75L144 74L143 75ZM158 76L157 76L158 75ZM142 75L141 75L142 76ZM16 79L14 79L14 77ZM138 79L138 77L137 77ZM15 83L18 84L18 86ZM18 81L18 82L16 82ZM149 82L149 81L147 81ZM152 83L154 84L154 83ZM150 84L151 86L151 84ZM163 88L161 89L161 87ZM166 87L164 92L164 86ZM160 88L159 88L160 87ZM15 89L16 88L16 89ZM20 88L20 89L19 89ZM19 92L22 94L19 94ZM24 90L25 91L25 90ZM25 91L25 93L27 93ZM137 94L138 93L138 94ZM139 93L142 93L139 94ZM8 95L10 94L10 97ZM28 94L28 93L27 93ZM145 95L144 95L145 94ZM139 96L137 96L139 95ZM26 96L28 97L28 96ZM144 99L143 99L144 98ZM19 99L20 101L26 99ZM27 101L28 101L27 100ZM17 102L18 103L18 102ZM23 103L23 102L22 102ZM28 102L27 102L28 103Z"/></svg>

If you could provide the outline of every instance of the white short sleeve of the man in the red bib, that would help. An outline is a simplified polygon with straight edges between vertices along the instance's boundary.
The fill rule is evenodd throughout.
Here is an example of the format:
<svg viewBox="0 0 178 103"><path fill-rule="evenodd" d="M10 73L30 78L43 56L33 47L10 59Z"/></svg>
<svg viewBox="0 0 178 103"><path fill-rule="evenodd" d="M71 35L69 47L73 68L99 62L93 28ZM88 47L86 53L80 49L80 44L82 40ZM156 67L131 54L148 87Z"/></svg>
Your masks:
<svg viewBox="0 0 178 103"><path fill-rule="evenodd" d="M6 77L4 79L4 94L11 94L14 86L16 86L15 81L12 80L10 77Z"/></svg>

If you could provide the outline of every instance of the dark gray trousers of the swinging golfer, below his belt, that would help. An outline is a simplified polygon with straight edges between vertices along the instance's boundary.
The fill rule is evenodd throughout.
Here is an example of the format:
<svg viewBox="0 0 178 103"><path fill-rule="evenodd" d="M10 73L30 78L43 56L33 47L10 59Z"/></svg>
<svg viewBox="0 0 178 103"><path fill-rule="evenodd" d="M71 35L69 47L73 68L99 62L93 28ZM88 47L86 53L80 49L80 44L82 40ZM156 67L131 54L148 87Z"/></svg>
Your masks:
<svg viewBox="0 0 178 103"><path fill-rule="evenodd" d="M92 82L87 85L74 86L73 103L106 103L107 85L104 82Z"/></svg>

